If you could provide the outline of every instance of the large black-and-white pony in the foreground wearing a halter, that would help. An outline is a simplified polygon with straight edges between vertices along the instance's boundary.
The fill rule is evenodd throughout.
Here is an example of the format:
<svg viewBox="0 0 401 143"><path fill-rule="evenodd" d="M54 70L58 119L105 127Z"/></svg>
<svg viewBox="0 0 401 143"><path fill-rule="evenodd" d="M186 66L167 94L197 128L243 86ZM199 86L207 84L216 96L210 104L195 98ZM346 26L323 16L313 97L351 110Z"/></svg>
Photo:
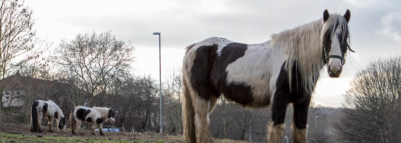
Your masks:
<svg viewBox="0 0 401 143"><path fill-rule="evenodd" d="M294 106L295 143L306 143L311 95L320 71L339 77L348 49L348 21L323 12L323 18L283 32L259 44L212 37L186 48L182 64L184 138L213 142L209 115L220 95L245 107L272 106L267 141L281 141L287 105ZM352 51L350 49L350 51ZM353 51L352 51L353 52Z"/></svg>

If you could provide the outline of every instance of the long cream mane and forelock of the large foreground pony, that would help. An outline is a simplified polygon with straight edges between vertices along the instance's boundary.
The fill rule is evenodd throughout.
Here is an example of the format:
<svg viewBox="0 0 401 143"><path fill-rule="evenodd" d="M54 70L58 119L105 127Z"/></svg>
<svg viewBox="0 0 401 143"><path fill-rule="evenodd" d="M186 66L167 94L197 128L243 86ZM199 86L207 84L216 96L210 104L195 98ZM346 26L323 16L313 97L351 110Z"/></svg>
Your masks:
<svg viewBox="0 0 401 143"><path fill-rule="evenodd" d="M306 91L313 92L315 80L319 77L320 70L324 66L322 56L324 34L332 32L332 37L337 27L344 33L342 34L342 38L347 38L348 24L345 18L339 14L330 14L326 22L321 18L271 35L272 47L282 48L283 52L287 55L285 67L288 71L290 84L292 67L295 60L297 60L299 70L301 71L300 75L303 79L302 83Z"/></svg>

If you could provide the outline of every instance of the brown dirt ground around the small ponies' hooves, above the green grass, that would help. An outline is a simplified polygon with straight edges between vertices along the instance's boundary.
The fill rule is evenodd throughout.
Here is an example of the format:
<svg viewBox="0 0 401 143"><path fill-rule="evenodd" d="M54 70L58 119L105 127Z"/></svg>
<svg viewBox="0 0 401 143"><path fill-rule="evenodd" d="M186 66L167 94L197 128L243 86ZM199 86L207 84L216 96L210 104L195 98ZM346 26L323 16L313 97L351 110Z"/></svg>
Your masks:
<svg viewBox="0 0 401 143"><path fill-rule="evenodd" d="M48 131L48 126L42 126L43 133L32 133L30 132L30 127L25 124L13 124L13 123L0 123L0 133L22 133L28 135L42 135L44 137L82 137L84 139L107 139L107 140L122 140L129 142L158 142L163 141L164 143L184 143L182 135L168 135L168 134L160 134L160 133L130 133L130 132L103 132L105 135L99 135L99 132L96 132L96 135L92 135L90 131L83 131L85 135L72 135L71 130L67 129L65 131L57 132L57 129L54 133L50 133ZM78 131L76 130L78 133ZM235 141L228 139L213 139L216 143L246 143L244 141Z"/></svg>

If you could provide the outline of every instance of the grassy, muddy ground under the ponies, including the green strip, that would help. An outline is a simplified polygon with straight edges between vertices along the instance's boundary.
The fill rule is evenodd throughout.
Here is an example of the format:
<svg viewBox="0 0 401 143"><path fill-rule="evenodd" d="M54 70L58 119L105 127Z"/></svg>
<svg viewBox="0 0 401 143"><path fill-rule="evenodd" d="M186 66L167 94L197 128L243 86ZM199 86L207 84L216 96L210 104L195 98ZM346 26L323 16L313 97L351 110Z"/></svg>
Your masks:
<svg viewBox="0 0 401 143"><path fill-rule="evenodd" d="M91 135L90 131L84 131L85 135L72 135L69 129L56 130L54 133L49 133L47 129L43 126L43 133L31 133L25 124L0 123L0 143L184 143L182 135L104 132L105 135L101 136L98 132ZM213 140L215 143L247 143L229 139Z"/></svg>

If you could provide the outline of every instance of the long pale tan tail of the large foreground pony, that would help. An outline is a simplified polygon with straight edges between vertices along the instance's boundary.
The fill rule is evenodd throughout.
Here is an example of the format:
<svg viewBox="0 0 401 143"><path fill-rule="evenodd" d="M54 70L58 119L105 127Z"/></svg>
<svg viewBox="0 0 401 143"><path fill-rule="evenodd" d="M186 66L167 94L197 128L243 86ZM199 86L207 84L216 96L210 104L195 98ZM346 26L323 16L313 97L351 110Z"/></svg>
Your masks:
<svg viewBox="0 0 401 143"><path fill-rule="evenodd" d="M184 139L188 143L196 143L195 135L195 111L188 85L185 83L185 76L182 78L182 116L184 117Z"/></svg>

